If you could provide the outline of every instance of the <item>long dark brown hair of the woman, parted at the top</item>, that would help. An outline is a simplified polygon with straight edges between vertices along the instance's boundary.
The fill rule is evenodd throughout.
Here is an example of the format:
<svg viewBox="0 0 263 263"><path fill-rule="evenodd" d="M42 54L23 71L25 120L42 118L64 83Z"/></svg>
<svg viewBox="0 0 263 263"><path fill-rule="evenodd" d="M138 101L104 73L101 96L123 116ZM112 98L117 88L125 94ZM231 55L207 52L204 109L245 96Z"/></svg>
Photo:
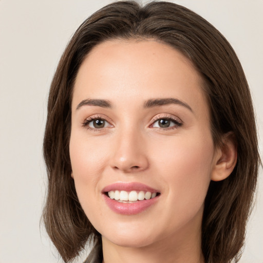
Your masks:
<svg viewBox="0 0 263 263"><path fill-rule="evenodd" d="M228 41L193 11L168 2L144 7L116 2L92 14L78 28L54 74L48 100L44 157L48 194L43 219L65 262L78 256L87 240L101 242L79 203L69 158L71 95L87 53L110 39L155 39L181 51L204 80L215 145L232 131L238 161L225 180L211 182L202 221L206 263L237 262L245 238L259 166L256 125L248 83Z"/></svg>

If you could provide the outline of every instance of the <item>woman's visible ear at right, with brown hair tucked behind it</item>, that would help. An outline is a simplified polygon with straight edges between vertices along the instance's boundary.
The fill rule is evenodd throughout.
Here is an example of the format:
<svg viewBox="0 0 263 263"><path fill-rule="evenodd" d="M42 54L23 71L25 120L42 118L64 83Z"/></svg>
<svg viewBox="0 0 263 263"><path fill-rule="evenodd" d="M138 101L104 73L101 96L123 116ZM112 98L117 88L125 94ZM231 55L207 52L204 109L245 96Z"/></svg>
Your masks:
<svg viewBox="0 0 263 263"><path fill-rule="evenodd" d="M237 143L232 132L225 134L222 145L216 150L212 181L226 179L234 170L237 162Z"/></svg>

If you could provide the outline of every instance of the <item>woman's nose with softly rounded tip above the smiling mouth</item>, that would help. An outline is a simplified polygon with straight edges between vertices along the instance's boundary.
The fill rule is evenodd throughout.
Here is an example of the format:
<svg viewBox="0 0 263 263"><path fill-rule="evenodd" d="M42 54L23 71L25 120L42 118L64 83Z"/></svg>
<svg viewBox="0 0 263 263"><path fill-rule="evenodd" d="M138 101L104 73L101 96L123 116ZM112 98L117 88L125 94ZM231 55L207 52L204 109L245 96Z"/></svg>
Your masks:
<svg viewBox="0 0 263 263"><path fill-rule="evenodd" d="M124 173L138 173L148 167L146 142L142 134L135 130L116 135L112 149L111 167Z"/></svg>

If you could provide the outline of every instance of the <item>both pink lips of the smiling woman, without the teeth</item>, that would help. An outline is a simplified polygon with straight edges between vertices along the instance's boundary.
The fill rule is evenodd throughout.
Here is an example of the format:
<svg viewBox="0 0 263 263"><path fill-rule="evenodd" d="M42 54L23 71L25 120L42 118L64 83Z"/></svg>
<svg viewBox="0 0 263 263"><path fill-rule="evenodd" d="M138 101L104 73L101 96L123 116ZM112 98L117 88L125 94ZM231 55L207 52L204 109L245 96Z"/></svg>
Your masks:
<svg viewBox="0 0 263 263"><path fill-rule="evenodd" d="M109 191L115 191L115 190L123 190L123 191L149 191L151 193L158 193L157 190L153 189L152 187L149 187L145 184L138 183L138 182L132 182L132 183L114 183L106 186L103 189L103 198L106 202L106 204L109 206L109 208L114 211L117 214L122 215L136 215L139 214L146 209L148 209L150 206L155 204L159 200L159 195L157 195L154 198L151 198L149 200L142 200L142 201L136 201L133 203L121 203L114 199L110 199L105 192Z"/></svg>

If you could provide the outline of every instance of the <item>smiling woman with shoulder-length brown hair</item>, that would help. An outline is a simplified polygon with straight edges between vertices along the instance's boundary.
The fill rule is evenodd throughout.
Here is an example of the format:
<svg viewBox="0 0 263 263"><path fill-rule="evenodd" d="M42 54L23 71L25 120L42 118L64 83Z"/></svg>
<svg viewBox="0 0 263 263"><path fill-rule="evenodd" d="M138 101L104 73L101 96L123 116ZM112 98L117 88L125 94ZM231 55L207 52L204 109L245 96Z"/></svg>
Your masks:
<svg viewBox="0 0 263 263"><path fill-rule="evenodd" d="M259 155L224 37L167 2L110 4L69 42L49 94L47 232L65 262L238 261Z"/></svg>

